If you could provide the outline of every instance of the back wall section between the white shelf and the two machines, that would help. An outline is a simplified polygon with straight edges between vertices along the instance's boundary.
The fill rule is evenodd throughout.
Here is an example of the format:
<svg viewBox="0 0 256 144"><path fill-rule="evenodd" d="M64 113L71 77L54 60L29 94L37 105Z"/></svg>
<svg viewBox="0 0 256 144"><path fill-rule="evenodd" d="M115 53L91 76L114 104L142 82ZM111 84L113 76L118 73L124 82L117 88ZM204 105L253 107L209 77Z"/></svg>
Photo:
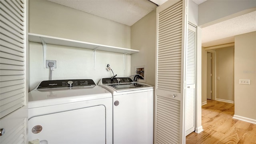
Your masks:
<svg viewBox="0 0 256 144"><path fill-rule="evenodd" d="M98 84L100 78L113 76L105 69L111 64L114 74L119 77L130 76L130 55L126 55L124 70L123 54L96 51L94 70L93 52L85 48L47 45L46 60L56 60L57 68L52 71L52 80L92 79ZM30 90L39 82L49 79L49 68L44 68L42 44L30 42Z"/></svg>

